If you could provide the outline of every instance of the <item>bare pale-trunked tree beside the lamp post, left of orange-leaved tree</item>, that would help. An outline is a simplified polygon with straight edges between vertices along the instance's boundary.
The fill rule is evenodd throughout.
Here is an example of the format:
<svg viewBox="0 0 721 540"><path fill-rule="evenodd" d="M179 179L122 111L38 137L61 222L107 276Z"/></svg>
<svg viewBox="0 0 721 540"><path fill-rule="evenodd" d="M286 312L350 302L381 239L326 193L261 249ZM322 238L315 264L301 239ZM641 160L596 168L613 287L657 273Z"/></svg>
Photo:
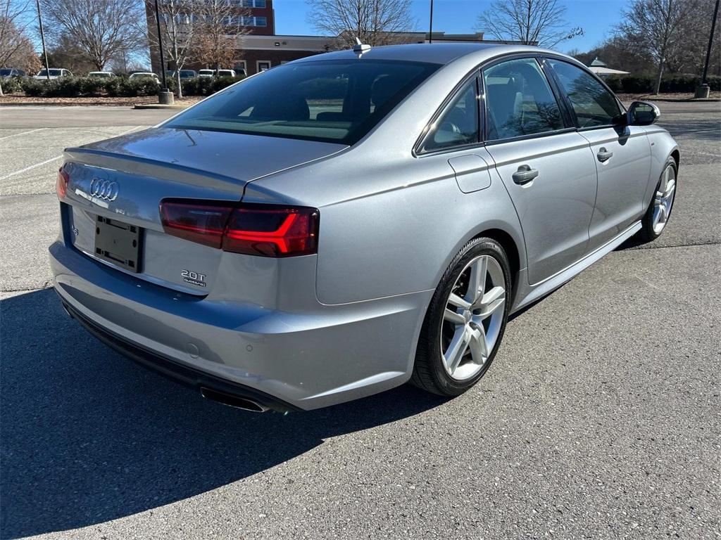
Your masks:
<svg viewBox="0 0 721 540"><path fill-rule="evenodd" d="M177 96L182 98L180 70L190 60L197 48L198 30L202 27L205 6L203 0L161 0L160 32L163 40L165 60L175 68ZM158 50L158 37L155 27L149 32L149 40Z"/></svg>

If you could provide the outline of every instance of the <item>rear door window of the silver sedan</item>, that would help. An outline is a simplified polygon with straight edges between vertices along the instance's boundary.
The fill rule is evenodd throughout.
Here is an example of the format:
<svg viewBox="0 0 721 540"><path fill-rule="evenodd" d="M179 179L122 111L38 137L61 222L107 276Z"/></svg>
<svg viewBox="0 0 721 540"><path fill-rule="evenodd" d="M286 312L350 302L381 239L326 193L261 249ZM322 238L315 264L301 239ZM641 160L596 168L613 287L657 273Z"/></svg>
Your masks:
<svg viewBox="0 0 721 540"><path fill-rule="evenodd" d="M508 60L483 70L487 140L562 129L561 111L533 58Z"/></svg>

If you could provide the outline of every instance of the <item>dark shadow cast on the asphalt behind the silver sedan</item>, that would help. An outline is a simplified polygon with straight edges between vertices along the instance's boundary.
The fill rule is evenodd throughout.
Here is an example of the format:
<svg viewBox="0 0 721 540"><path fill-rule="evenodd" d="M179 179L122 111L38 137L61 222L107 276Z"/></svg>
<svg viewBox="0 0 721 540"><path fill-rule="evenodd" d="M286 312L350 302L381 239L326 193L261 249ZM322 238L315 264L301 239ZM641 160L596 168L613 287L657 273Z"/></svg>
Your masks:
<svg viewBox="0 0 721 540"><path fill-rule="evenodd" d="M444 401L406 385L322 410L259 415L123 359L68 318L52 289L2 300L0 324L2 538L174 503Z"/></svg>

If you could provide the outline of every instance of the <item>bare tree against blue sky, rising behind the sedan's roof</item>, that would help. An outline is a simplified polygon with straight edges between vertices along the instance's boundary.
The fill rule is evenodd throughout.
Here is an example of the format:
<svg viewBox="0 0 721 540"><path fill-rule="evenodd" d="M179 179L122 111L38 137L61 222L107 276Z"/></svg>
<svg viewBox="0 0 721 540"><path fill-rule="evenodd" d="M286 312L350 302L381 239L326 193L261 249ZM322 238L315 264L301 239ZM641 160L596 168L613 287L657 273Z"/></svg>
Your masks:
<svg viewBox="0 0 721 540"><path fill-rule="evenodd" d="M583 28L568 27L565 13L557 0L495 0L478 17L478 25L497 40L552 48L583 35Z"/></svg>

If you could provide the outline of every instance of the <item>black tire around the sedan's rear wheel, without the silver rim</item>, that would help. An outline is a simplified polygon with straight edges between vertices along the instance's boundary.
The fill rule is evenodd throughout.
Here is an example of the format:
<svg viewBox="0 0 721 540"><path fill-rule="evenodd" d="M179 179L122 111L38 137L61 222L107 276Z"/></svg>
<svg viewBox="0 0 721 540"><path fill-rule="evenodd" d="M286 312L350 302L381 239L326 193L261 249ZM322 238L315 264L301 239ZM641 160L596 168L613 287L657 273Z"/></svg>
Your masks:
<svg viewBox="0 0 721 540"><path fill-rule="evenodd" d="M443 323L443 312L446 310L446 301L448 296L451 294L451 289L454 287L454 284L456 284L456 279L458 279L461 271L463 271L466 267L466 264L480 255L492 256L496 261L498 261L498 264L500 264L500 267L503 270L506 289L503 320L501 321L498 338L496 339L491 354L488 356L488 359L482 369L480 369L473 377L469 377L469 379L464 379L463 381L458 381L451 378L451 376L448 375L448 372L446 372L445 366L443 366L443 351L441 351L441 325ZM508 313L510 312L510 304L512 300L510 294L511 289L510 265L508 264L508 257L500 244L490 238L476 238L471 240L461 249L461 251L459 251L458 255L454 258L454 261L451 262L450 266L448 266L448 270L446 270L446 273L443 274L441 283L438 285L438 288L433 295L433 300L430 302L430 307L424 323L425 331L423 332L423 336L426 340L425 353L428 355L428 358L425 360L430 367L431 375L433 376L435 385L439 392L448 396L460 395L476 384L478 379L483 377L487 369L490 367L503 338L505 325L508 322Z"/></svg>

